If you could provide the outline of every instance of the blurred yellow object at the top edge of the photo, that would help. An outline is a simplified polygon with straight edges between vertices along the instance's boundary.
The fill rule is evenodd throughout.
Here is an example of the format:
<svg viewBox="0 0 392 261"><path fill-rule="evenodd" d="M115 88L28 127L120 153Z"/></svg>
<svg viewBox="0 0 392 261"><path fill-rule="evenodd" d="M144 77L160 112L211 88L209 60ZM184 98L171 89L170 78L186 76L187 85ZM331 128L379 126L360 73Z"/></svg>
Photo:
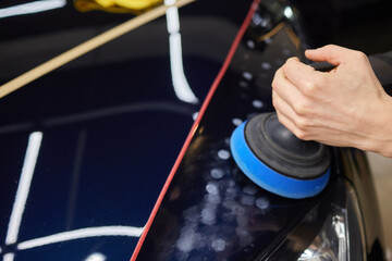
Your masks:
<svg viewBox="0 0 392 261"><path fill-rule="evenodd" d="M163 0L75 0L74 7L79 12L100 10L110 13L143 13Z"/></svg>

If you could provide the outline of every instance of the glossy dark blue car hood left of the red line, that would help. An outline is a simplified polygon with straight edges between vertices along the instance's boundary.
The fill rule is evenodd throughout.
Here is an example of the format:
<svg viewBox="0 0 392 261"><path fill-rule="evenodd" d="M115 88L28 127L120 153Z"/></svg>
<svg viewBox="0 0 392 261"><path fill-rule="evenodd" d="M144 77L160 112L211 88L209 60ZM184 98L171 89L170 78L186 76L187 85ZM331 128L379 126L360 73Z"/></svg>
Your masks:
<svg viewBox="0 0 392 261"><path fill-rule="evenodd" d="M244 15L217 7L180 10L184 74L199 100ZM71 2L4 17L0 83L132 17ZM169 38L163 16L0 100L1 259L130 259L199 109L173 88Z"/></svg>

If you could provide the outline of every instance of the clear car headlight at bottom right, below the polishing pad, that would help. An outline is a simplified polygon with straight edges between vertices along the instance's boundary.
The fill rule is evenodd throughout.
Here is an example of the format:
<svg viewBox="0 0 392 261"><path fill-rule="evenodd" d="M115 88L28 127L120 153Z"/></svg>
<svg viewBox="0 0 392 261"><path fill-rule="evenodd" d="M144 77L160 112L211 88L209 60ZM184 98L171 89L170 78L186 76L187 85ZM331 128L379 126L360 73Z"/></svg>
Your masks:
<svg viewBox="0 0 392 261"><path fill-rule="evenodd" d="M363 220L351 184L338 179L268 260L366 260Z"/></svg>

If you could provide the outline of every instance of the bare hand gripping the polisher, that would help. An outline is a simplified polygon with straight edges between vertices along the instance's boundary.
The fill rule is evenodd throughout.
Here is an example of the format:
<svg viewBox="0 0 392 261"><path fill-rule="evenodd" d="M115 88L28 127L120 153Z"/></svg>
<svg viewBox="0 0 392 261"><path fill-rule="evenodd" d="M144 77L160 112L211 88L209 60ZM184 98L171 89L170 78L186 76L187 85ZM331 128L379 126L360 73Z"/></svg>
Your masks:
<svg viewBox="0 0 392 261"><path fill-rule="evenodd" d="M305 55L336 67L322 73L289 59L272 82L279 121L299 139L392 157L392 98L366 54L329 45Z"/></svg>

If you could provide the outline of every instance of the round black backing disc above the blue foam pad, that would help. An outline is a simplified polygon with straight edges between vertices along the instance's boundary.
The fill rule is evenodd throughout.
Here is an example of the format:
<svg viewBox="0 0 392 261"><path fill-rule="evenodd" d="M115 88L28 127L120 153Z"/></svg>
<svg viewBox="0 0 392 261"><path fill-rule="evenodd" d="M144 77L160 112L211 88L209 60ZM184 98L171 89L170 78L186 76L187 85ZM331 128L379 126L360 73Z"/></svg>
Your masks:
<svg viewBox="0 0 392 261"><path fill-rule="evenodd" d="M298 139L278 121L275 113L250 119L245 126L245 138L259 160L286 176L316 178L330 165L324 145Z"/></svg>

